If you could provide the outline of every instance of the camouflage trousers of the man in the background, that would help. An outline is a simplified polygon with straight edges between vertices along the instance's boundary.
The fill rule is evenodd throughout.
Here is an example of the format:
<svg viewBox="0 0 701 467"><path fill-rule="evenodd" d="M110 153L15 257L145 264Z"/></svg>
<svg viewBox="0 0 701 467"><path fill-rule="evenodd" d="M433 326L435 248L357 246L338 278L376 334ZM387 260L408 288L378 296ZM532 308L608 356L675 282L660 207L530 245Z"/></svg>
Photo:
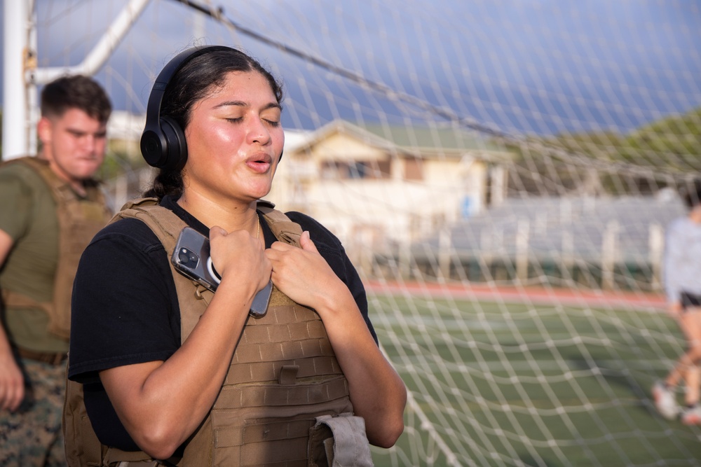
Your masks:
<svg viewBox="0 0 701 467"><path fill-rule="evenodd" d="M25 399L15 412L0 410L0 466L66 466L61 419L66 365L20 360Z"/></svg>

